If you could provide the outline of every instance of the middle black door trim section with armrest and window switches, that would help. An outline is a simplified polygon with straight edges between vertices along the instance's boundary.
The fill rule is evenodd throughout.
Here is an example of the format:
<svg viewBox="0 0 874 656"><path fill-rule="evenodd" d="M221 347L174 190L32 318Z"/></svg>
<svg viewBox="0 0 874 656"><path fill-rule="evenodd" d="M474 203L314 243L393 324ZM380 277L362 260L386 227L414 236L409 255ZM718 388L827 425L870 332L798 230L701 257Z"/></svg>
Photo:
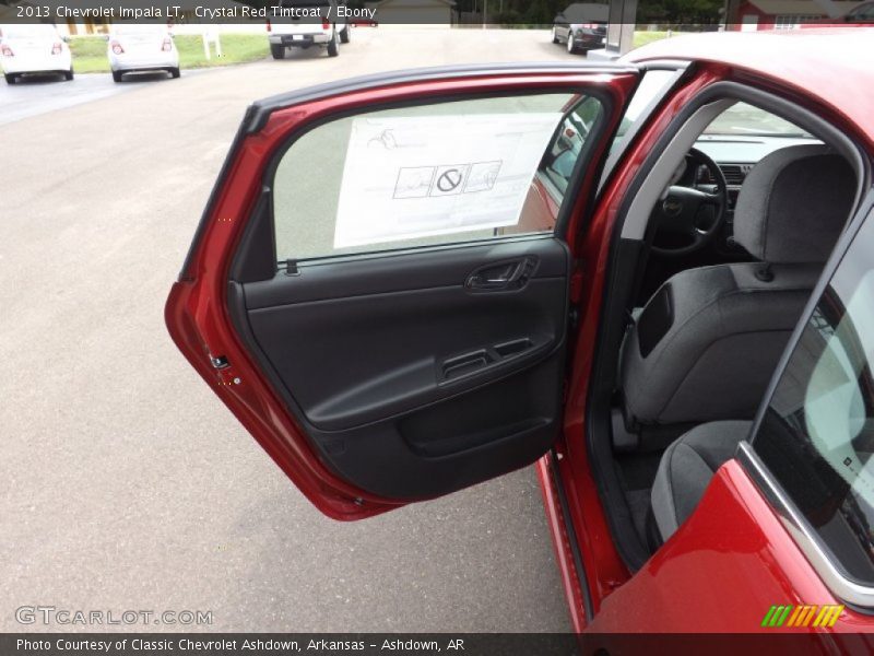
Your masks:
<svg viewBox="0 0 874 656"><path fill-rule="evenodd" d="M560 278L507 294L458 284L255 309L249 323L309 422L336 431L542 360L558 344L564 298ZM522 340L519 352L501 358L496 350Z"/></svg>

